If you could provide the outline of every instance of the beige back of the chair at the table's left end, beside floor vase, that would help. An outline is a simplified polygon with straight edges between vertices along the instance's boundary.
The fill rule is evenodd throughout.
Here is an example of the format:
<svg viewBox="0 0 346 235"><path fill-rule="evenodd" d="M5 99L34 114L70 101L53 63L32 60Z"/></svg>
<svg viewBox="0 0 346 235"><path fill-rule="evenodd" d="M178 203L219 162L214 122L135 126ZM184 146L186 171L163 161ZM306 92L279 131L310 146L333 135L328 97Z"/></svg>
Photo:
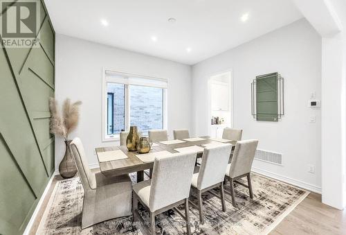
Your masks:
<svg viewBox="0 0 346 235"><path fill-rule="evenodd" d="M78 174L80 175L80 180L84 190L86 189L96 189L96 178L95 174L90 171L88 161L86 160L86 155L84 147L80 138L75 138L70 143L70 150L73 159L75 159L75 165L77 166Z"/></svg>

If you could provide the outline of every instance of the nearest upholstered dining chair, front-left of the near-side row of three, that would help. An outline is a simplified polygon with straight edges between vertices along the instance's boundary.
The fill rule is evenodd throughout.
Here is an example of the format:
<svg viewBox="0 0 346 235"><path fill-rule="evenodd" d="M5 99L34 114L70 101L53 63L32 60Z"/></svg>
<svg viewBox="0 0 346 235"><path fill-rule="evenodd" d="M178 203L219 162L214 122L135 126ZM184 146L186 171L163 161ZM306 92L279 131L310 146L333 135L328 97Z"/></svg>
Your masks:
<svg viewBox="0 0 346 235"><path fill-rule="evenodd" d="M175 153L156 157L151 180L134 184L132 213L136 213L138 200L150 217L151 234L156 234L155 216L168 209L185 204L187 234L190 234L190 216L188 198L196 153Z"/></svg>

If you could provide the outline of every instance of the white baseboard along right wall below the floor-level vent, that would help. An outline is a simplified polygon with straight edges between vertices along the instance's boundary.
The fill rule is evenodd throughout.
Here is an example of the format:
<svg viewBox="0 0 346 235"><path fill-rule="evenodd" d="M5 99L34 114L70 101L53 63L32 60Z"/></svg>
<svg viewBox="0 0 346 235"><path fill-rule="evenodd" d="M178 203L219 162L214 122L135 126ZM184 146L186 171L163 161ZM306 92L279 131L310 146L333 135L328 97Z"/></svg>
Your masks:
<svg viewBox="0 0 346 235"><path fill-rule="evenodd" d="M313 185L313 184L309 184L307 182L302 182L300 180L295 180L295 179L292 179L290 177L286 177L286 176L283 176L283 175L279 175L277 173L272 173L270 171L265 171L265 170L262 170L260 168L257 168L257 167L253 167L251 169L251 171L253 171L254 173L258 173L260 175L264 175L264 176L267 176L267 177L271 177L275 180L280 180L282 182L285 182L287 184L292 184L294 186L298 186L302 189L307 189L311 192L314 192L314 193L322 193L322 189L320 186L316 186L316 185Z"/></svg>

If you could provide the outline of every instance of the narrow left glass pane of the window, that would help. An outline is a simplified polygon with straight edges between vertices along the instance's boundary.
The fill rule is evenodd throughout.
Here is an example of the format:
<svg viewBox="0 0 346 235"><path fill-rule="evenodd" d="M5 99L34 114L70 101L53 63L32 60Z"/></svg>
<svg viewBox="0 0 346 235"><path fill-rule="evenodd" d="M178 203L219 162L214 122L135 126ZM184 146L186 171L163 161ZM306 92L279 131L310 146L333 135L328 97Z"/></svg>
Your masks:
<svg viewBox="0 0 346 235"><path fill-rule="evenodd" d="M107 134L118 134L125 130L125 85L107 83L107 105Z"/></svg>

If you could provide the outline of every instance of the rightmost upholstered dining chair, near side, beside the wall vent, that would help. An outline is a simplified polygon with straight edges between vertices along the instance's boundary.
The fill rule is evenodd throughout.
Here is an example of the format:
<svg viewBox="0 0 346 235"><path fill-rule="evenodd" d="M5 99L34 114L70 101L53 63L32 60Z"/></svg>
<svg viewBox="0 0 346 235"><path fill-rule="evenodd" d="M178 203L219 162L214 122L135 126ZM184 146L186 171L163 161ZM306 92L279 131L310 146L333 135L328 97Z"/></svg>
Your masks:
<svg viewBox="0 0 346 235"><path fill-rule="evenodd" d="M230 181L230 195L232 196L233 207L235 204L235 189L233 183L240 184L248 188L250 198L253 198L253 188L251 184L251 166L253 166L253 158L257 148L258 140L237 141L233 159L226 169L225 179ZM247 177L248 185L239 182L242 177Z"/></svg>

